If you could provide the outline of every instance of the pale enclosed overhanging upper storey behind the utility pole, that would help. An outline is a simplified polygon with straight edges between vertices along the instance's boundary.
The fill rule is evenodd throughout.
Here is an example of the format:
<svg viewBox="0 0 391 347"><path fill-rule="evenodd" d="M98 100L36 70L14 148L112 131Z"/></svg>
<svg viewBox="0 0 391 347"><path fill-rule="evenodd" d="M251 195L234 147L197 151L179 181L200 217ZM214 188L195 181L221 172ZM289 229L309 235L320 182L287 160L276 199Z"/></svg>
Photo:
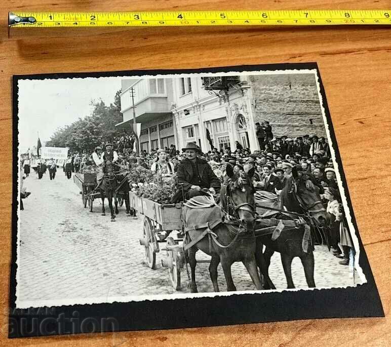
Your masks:
<svg viewBox="0 0 391 347"><path fill-rule="evenodd" d="M162 115L171 114L167 97L168 79L140 79L121 94L121 112L124 121L117 124L117 127L126 127L133 121L133 102L136 111L137 123L150 122ZM133 90L133 92L132 92Z"/></svg>

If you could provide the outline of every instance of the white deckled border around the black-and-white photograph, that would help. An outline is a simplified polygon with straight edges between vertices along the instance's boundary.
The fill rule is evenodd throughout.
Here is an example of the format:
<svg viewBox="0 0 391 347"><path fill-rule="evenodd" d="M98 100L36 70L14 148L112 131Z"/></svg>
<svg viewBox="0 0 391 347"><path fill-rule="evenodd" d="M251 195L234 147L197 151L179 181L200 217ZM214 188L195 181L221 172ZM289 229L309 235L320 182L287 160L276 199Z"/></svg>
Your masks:
<svg viewBox="0 0 391 347"><path fill-rule="evenodd" d="M303 63L305 65L305 63ZM261 66L260 66L261 67ZM216 67L217 69L218 67ZM351 221L351 214L350 214L350 209L346 200L346 195L345 195L345 190L342 185L342 178L340 174L340 167L338 165L338 162L336 161L336 155L335 155L335 146L334 142L331 139L330 135L330 125L326 117L326 111L323 106L323 102L326 100L323 100L323 96L321 93L320 89L320 79L321 76L318 74L318 71L315 68L303 68L303 69L276 69L276 70L246 70L246 66L243 67L243 71L236 71L232 68L232 71L229 72L191 72L191 73L157 73L157 74L145 74L145 75L115 75L115 71L113 71L112 75L110 76L97 76L97 77L77 77L74 76L72 78L66 77L62 78L61 74L58 75L58 78L49 78L46 77L44 79L29 79L29 78L23 78L23 76L19 76L18 79L18 86L19 86L19 93L21 89L23 88L23 84L25 82L44 82L47 80L75 80L75 79L81 79L81 80L86 80L86 79L91 79L91 80L96 80L96 79L110 79L114 77L119 77L119 78L129 78L129 79L152 79L152 78L180 78L180 77L190 77L190 76L211 76L211 75L270 75L270 74L314 74L315 75L315 80L316 80L316 85L317 85L317 91L318 91L318 96L319 96L319 101L320 101L320 107L322 111L322 117L324 121L324 126L325 126L325 131L327 134L327 139L328 143L330 144L330 152L332 156L333 163L335 167L337 168L336 170L336 178L337 178L337 183L338 183L338 188L341 193L341 199L343 202L343 207L344 211L346 212L346 217L349 225L349 229L351 232L351 235L353 237L354 245L357 247L357 256L355 258L355 267L358 271L358 274L363 281L363 283L367 282L366 277L362 271L361 266L359 265L359 255L360 255L360 247L359 247L359 242L357 238L357 231L353 225L353 222ZM200 69L202 70L202 68ZM100 72L97 72L99 74ZM76 73L77 74L77 73ZM17 95L17 100L18 103L20 102L19 100L19 93ZM19 139L19 131L18 131L18 139ZM14 148L15 149L15 148ZM20 159L20 150L19 146L16 148L17 151L17 156L18 156L18 162ZM75 298L72 300L69 299L61 299L61 300L29 300L29 301L21 301L19 299L19 288L18 288L18 282L19 282L19 273L20 273L20 263L19 263L19 255L20 255L20 170L18 165L14 168L14 170L17 170L17 186L18 186L18 208L17 208L17 216L18 216L18 229L17 229L17 259L16 259L16 264L17 264L17 272L16 272L16 308L17 309L26 309L28 307L42 307L42 306L60 306L60 305L74 305L74 304L93 304L93 303L113 303L113 302L131 302L131 301L155 301L155 300L176 300L176 299L185 299L185 298L202 298L202 297L215 297L215 296L232 296L232 295L242 295L242 294L263 294L263 293L271 293L271 292L279 292L283 293L285 291L314 291L314 290L327 290L331 288L348 288L348 287L356 287L356 285L351 285L351 286L341 286L341 287L319 287L319 288L294 288L294 289L276 289L276 290L249 290L249 291L237 291L237 292L207 292L207 293L175 293L175 294L160 294L160 295L153 295L153 296L148 296L148 295L138 295L138 296L124 296L124 297L96 297L96 298Z"/></svg>

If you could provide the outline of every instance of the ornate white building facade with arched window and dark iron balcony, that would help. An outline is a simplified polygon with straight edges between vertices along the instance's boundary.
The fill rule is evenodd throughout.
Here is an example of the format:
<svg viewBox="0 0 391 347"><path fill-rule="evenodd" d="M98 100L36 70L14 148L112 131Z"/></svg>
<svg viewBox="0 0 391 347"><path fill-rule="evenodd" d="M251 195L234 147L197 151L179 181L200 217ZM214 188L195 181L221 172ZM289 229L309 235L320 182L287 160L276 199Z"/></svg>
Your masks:
<svg viewBox="0 0 391 347"><path fill-rule="evenodd" d="M172 111L179 144L194 142L208 151L212 147L236 148L235 141L239 141L255 149L247 76L233 76L234 84L225 92L206 90L205 80L190 76L173 82L176 107Z"/></svg>

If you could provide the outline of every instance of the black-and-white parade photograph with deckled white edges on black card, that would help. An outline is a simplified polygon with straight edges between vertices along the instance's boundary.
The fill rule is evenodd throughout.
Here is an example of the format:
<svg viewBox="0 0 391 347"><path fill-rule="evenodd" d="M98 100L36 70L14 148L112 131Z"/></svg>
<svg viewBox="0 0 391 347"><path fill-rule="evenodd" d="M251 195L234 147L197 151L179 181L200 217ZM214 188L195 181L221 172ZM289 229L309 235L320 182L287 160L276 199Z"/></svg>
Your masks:
<svg viewBox="0 0 391 347"><path fill-rule="evenodd" d="M366 283L318 70L284 66L19 76L16 307Z"/></svg>

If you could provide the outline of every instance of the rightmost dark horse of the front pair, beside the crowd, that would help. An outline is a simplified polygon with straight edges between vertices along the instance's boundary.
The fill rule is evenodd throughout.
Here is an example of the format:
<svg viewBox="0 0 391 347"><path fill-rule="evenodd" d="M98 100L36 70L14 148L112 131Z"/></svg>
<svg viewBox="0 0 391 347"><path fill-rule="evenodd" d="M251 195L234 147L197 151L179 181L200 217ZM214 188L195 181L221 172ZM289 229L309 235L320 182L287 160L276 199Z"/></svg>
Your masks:
<svg viewBox="0 0 391 347"><path fill-rule="evenodd" d="M326 225L326 210L319 196L319 188L314 184L314 178L307 173L293 171L293 176L286 180L285 187L280 195L279 209L296 212L305 216L305 221L311 227L323 227ZM259 202L262 205L262 202ZM264 212L257 209L257 212ZM277 212L273 218L294 220L297 216ZM263 275L265 289L276 289L268 275L270 258L274 252L281 254L281 261L287 279L288 288L295 288L292 280L291 264L294 257L299 257L304 267L305 279L308 287L315 287L314 280L314 248L311 242L306 252L303 250L302 242L305 233L305 226L286 227L280 236L272 241L271 235L257 238L256 259L259 269ZM310 241L310 240L309 240ZM266 246L262 256L263 245Z"/></svg>

